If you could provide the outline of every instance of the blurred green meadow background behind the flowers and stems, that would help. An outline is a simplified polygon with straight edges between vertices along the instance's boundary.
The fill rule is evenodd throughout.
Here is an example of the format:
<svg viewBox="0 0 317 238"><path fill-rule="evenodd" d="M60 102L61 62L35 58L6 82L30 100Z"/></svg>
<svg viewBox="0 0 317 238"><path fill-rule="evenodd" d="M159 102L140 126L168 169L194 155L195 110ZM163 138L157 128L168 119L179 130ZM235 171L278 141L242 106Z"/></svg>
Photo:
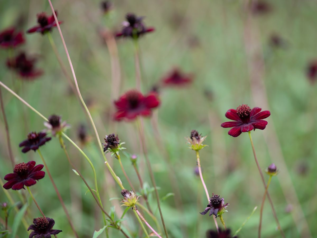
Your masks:
<svg viewBox="0 0 317 238"><path fill-rule="evenodd" d="M99 32L106 27L113 32L119 31L127 12L146 16L146 25L155 27L153 33L139 40L142 77L146 82L142 85L143 93L174 66L194 74L194 81L188 87L160 90L161 105L155 110L153 118L158 120L163 148L158 144L158 135L151 119L145 119L146 143L160 188L159 195L163 198L168 193L175 193L172 183L181 193L182 210L176 208L173 196L161 202L170 237L205 237L206 230L214 229L215 226L209 216L199 214L207 202L200 179L194 174L195 153L185 144L184 137L190 134L191 129L208 135L205 144L209 147L201 151L201 165L209 193L217 193L230 203L229 212L223 215L227 227L234 233L253 208L258 206L239 233L239 237L257 236L264 188L248 135L243 133L233 138L227 135L229 129L220 127L222 122L229 121L224 116L225 112L242 103L251 108L257 106L271 111L267 128L264 131L256 130L252 135L261 168L264 170L272 162L280 168L279 175L272 179L269 192L286 237L317 237L314 172L317 98L316 85L306 78L307 64L317 53L317 3L309 0L266 3L270 5L270 10L256 14L248 12L247 1L117 0L113 2L110 17L105 17L100 9L100 1L53 1L54 8L58 10L58 19L63 21L61 30L81 94L89 102L99 135L117 133L120 140L126 142L126 152L139 155L143 180L149 185L151 182L140 150L136 123L112 123L109 120L109 113L113 111L111 63L107 45ZM36 24L36 14L42 11L50 15L47 1L0 1L0 30L16 26L25 32ZM280 36L285 44L270 44L273 34ZM70 73L57 28L53 29L52 36ZM102 202L109 210L118 204L118 200L109 199L120 197L120 188L104 165L93 130L87 123L80 103L70 93L48 37L30 34L25 35L25 38L26 43L17 52L25 50L38 56L37 66L44 70L43 76L34 81L21 80L6 68L8 52L2 49L1 81L13 89L13 76L19 88L18 94L34 108L46 117L53 113L61 115L72 126L67 132L68 136L78 144L78 127L81 123L86 124L91 140L82 149L97 169ZM117 47L121 66L121 95L135 87L134 45L130 39L119 39ZM37 153L30 151L23 154L18 144L28 132L44 129L42 118L5 89L1 90L16 161L27 162L32 159L41 163ZM3 179L4 175L12 171L12 166L2 117L0 142L0 175ZM66 146L71 159L93 186L93 173L87 161L71 144L66 142ZM100 210L93 197L89 193L85 195L86 186L71 170L56 138L42 147L42 154L80 237L92 237L94 230L103 226ZM139 188L129 158L122 154L122 161L133 185ZM129 188L117 160L112 158L109 162L125 187ZM175 175L176 181L171 182L169 173ZM268 179L268 176L265 175L265 178ZM54 218L54 228L63 230L58 237L74 237L48 176L37 182L31 190L44 214ZM9 192L15 201L19 200L16 191ZM25 191L22 192L29 197ZM149 199L160 222L154 193ZM5 201L7 198L1 190L0 202ZM31 224L30 218L40 214L32 201L29 202L31 214L25 217ZM116 208L117 215L122 214L122 211L122 208ZM13 222L14 214L12 212L10 215L9 225ZM0 221L3 221L3 212L0 212L0 217ZM145 217L154 227L151 218ZM128 212L126 219L123 225L130 234L142 237L132 211ZM221 226L220 221L218 223ZM17 236L27 237L22 224ZM110 229L110 237L121 237L121 234ZM264 207L262 237L281 237L268 201Z"/></svg>

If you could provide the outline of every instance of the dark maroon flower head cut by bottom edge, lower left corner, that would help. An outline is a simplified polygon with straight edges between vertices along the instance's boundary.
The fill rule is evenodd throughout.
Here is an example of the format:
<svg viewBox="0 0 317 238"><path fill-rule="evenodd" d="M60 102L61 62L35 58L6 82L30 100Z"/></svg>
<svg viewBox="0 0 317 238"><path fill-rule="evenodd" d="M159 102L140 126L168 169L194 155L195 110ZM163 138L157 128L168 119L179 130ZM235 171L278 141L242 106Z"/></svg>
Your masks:
<svg viewBox="0 0 317 238"><path fill-rule="evenodd" d="M49 217L34 218L33 224L28 228L28 230L33 230L29 235L29 238L50 238L51 235L57 235L62 232L61 230L52 229L55 221Z"/></svg>

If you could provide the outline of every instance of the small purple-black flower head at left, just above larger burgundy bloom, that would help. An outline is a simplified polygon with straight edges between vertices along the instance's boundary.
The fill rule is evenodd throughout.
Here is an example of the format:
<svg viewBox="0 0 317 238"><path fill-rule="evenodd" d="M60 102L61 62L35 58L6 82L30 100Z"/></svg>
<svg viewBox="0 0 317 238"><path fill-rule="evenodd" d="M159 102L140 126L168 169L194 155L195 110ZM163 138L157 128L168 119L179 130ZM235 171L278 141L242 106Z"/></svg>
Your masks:
<svg viewBox="0 0 317 238"><path fill-rule="evenodd" d="M51 137L46 137L45 132L40 132L40 133L31 132L28 135L28 139L21 142L19 146L24 147L22 149L23 153L26 153L31 149L36 151L40 146L44 145L46 142L50 141L51 139L52 139Z"/></svg>

